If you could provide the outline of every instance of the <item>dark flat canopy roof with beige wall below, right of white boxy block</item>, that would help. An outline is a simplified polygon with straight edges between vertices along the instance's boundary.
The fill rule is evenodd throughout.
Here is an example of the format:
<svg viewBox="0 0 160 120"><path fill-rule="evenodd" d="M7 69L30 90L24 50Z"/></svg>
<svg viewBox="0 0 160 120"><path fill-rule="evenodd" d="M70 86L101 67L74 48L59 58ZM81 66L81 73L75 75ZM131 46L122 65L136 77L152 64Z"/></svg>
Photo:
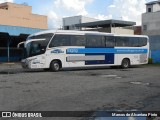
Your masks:
<svg viewBox="0 0 160 120"><path fill-rule="evenodd" d="M76 24L75 26L80 27L82 30L133 35L134 30L131 26L135 24L135 22L122 20L101 20L95 22Z"/></svg>

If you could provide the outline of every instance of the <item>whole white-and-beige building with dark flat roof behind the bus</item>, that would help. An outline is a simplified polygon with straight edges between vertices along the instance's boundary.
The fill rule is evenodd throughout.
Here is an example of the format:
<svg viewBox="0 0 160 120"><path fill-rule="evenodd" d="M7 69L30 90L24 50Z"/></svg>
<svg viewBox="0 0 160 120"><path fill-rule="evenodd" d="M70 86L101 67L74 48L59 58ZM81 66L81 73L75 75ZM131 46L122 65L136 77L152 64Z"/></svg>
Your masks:
<svg viewBox="0 0 160 120"><path fill-rule="evenodd" d="M64 30L88 30L116 34L134 34L135 22L122 20L98 20L84 16L63 18Z"/></svg>

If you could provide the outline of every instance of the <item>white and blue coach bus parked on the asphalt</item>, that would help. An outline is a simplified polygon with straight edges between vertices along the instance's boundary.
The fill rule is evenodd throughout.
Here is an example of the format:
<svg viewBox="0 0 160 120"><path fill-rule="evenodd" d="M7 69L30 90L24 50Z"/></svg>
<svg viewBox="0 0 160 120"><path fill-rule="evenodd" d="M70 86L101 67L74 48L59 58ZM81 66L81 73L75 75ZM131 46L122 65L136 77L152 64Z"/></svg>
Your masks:
<svg viewBox="0 0 160 120"><path fill-rule="evenodd" d="M59 71L68 67L148 63L149 38L94 31L46 30L28 36L22 67Z"/></svg>

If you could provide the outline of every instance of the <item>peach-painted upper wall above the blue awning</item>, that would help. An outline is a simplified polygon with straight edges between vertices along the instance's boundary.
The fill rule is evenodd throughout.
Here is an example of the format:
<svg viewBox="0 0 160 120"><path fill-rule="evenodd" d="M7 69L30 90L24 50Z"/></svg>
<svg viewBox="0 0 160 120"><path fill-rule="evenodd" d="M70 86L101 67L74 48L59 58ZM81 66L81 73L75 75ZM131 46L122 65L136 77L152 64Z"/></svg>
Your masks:
<svg viewBox="0 0 160 120"><path fill-rule="evenodd" d="M48 29L47 16L31 12L31 6L2 3L0 4L0 25Z"/></svg>

